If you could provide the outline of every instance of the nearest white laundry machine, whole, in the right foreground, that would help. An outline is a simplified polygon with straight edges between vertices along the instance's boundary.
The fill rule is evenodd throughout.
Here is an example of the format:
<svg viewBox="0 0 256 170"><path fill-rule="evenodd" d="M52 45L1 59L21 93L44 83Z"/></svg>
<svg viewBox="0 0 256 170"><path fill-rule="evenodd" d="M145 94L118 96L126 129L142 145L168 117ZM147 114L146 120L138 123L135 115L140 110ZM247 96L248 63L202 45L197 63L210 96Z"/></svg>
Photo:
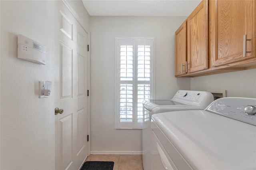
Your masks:
<svg viewBox="0 0 256 170"><path fill-rule="evenodd" d="M152 115L152 170L255 170L256 99Z"/></svg>

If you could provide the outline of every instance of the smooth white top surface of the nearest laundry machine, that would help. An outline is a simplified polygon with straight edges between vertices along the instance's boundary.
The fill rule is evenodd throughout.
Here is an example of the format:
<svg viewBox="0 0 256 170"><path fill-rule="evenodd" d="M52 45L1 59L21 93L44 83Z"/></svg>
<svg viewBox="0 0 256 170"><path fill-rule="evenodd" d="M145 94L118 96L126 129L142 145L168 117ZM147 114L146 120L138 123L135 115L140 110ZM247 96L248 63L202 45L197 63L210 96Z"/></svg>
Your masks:
<svg viewBox="0 0 256 170"><path fill-rule="evenodd" d="M152 120L193 169L256 169L256 126L208 111L158 113Z"/></svg>

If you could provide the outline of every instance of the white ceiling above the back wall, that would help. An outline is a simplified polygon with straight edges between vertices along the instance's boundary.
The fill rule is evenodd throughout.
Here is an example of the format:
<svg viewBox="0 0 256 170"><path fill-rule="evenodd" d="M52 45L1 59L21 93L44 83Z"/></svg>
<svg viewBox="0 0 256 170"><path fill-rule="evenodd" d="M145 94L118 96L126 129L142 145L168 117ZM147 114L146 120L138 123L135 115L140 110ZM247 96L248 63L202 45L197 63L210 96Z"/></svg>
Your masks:
<svg viewBox="0 0 256 170"><path fill-rule="evenodd" d="M82 0L90 16L189 16L201 0Z"/></svg>

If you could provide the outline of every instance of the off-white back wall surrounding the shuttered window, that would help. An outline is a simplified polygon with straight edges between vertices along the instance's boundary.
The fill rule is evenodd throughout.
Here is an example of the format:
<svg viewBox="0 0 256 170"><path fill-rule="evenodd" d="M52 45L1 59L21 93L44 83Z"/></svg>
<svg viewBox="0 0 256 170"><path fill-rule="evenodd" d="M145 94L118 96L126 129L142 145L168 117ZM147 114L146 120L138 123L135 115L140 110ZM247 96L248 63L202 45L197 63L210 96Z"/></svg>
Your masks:
<svg viewBox="0 0 256 170"><path fill-rule="evenodd" d="M174 32L186 17L91 16L91 150L141 151L141 130L114 129L115 37L155 37L156 98L190 89L174 77Z"/></svg>

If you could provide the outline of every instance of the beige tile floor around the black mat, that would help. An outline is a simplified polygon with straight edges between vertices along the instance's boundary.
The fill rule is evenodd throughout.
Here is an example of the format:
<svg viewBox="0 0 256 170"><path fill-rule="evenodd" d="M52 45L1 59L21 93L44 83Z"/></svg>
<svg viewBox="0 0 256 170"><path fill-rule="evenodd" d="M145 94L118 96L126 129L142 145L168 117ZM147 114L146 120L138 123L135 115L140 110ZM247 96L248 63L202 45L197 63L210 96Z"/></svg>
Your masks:
<svg viewBox="0 0 256 170"><path fill-rule="evenodd" d="M142 155L89 155L86 161L113 161L113 170L143 170Z"/></svg>

